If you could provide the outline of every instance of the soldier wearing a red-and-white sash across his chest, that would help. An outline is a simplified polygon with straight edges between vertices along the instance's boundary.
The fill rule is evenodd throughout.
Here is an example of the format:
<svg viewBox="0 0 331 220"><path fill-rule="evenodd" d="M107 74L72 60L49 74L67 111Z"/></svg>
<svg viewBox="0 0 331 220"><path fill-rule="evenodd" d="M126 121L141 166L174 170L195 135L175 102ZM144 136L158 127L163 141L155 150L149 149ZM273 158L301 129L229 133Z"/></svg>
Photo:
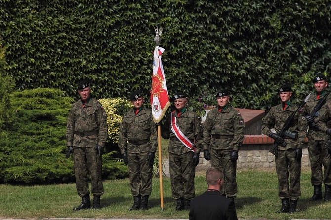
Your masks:
<svg viewBox="0 0 331 220"><path fill-rule="evenodd" d="M176 110L167 116L162 125L161 136L170 139L169 171L172 197L177 202L175 210L189 210L190 201L195 197L195 167L199 163L202 142L201 121L195 112L186 108L187 97L183 92L175 94L171 101L174 102ZM180 141L185 139L188 139L190 144L184 145Z"/></svg>

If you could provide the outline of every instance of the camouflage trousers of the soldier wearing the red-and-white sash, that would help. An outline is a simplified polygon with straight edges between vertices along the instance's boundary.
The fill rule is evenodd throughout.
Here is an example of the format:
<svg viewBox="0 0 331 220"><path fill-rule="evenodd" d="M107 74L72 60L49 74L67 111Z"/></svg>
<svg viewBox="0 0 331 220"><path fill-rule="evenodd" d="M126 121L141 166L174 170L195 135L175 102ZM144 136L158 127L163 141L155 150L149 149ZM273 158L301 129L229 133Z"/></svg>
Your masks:
<svg viewBox="0 0 331 220"><path fill-rule="evenodd" d="M193 155L191 151L180 155L169 153L171 192L174 199L195 197Z"/></svg>

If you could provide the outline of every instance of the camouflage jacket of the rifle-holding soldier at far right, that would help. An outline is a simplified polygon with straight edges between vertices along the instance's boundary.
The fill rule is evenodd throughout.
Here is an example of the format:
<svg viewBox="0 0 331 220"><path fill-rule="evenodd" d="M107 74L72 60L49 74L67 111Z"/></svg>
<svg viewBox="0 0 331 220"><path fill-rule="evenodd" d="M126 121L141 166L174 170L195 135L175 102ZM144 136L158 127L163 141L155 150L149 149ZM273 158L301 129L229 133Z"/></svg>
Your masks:
<svg viewBox="0 0 331 220"><path fill-rule="evenodd" d="M323 94L324 95L324 94ZM320 97L321 98L321 97ZM319 110L320 113L325 111L327 102L330 101L330 96L327 97L326 103L322 106L322 108ZM303 107L304 115L309 114L312 110L314 110L316 104L318 103L317 99L317 92L314 92L313 95L311 95L306 103L306 105ZM315 122L318 120L318 118L315 118ZM317 127L317 126L316 126ZM316 130L313 127L309 126L308 130L308 140L314 139L314 140L327 140L329 139L329 135L327 135L325 132L322 132L321 130Z"/></svg>

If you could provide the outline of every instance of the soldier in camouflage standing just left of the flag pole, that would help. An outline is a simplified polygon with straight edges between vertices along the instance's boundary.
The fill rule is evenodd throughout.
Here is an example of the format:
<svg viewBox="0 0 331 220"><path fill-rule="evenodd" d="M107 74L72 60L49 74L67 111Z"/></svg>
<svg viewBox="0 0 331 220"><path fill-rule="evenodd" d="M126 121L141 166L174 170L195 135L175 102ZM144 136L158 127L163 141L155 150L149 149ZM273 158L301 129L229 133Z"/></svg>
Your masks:
<svg viewBox="0 0 331 220"><path fill-rule="evenodd" d="M130 178L133 205L129 209L146 210L152 192L152 170L158 136L152 111L143 107L144 98L140 90L130 96L133 109L122 120L119 148Z"/></svg>

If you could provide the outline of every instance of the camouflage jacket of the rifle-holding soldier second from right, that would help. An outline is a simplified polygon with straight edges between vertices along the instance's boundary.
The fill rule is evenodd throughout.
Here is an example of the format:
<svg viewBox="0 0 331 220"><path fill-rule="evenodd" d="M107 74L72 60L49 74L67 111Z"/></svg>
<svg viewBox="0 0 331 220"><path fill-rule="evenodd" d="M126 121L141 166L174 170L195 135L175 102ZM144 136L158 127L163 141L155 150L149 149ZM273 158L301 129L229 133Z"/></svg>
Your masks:
<svg viewBox="0 0 331 220"><path fill-rule="evenodd" d="M270 136L270 129L272 128L275 128L276 133L280 132L280 130L284 126L285 121L293 113L293 111L296 110L296 108L298 108L298 106L293 103L291 103L291 105L286 110L283 110L283 104L271 107L269 113L264 117L264 120L262 122L262 133ZM286 146L283 147L282 145L278 145L278 149L287 150L290 148L302 148L307 134L307 122L306 118L304 117L304 114L302 113L302 110L298 110L296 112L288 131L297 133L298 138L284 139Z"/></svg>

